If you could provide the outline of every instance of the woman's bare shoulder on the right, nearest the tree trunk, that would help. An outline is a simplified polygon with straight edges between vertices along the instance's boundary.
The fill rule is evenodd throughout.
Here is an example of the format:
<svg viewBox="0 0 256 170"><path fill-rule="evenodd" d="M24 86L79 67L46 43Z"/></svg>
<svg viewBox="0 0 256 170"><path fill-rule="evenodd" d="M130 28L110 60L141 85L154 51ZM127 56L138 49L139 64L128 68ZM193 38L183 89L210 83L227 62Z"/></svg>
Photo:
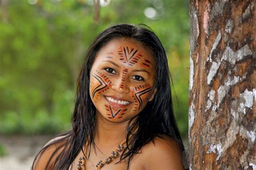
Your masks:
<svg viewBox="0 0 256 170"><path fill-rule="evenodd" d="M184 169L179 143L166 135L142 148L143 169Z"/></svg>

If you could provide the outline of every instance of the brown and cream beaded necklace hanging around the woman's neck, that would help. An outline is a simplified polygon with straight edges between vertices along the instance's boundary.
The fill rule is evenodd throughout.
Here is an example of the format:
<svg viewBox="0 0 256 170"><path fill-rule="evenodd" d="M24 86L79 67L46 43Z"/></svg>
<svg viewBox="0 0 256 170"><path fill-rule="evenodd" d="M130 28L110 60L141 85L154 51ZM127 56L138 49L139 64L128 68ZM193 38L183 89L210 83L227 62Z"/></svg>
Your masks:
<svg viewBox="0 0 256 170"><path fill-rule="evenodd" d="M123 145L124 145L125 141L126 141L126 139L123 140L117 146L116 150L112 151L111 155L109 157L107 157L104 161L100 160L98 162L98 164L96 164L97 170L102 168L105 164L109 164L112 160L114 160L114 159L116 159L118 157L118 155L119 155L118 152L121 152L124 149ZM86 142L86 144L85 144L85 152L84 152L85 154L87 153L87 149L88 149L88 142ZM83 155L83 157L79 158L79 161L78 161L78 164L77 164L77 168L79 170L85 170L85 160L86 160L85 155Z"/></svg>

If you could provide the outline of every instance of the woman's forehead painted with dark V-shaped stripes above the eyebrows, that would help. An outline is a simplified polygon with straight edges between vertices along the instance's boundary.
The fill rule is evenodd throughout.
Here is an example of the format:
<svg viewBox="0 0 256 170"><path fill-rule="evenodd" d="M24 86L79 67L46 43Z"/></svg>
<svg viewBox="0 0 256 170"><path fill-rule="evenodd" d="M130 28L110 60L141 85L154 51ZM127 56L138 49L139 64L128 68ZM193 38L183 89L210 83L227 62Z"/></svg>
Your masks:
<svg viewBox="0 0 256 170"><path fill-rule="evenodd" d="M139 42L132 39L114 39L108 42L96 55L95 62L113 60L122 66L154 68L151 52Z"/></svg>

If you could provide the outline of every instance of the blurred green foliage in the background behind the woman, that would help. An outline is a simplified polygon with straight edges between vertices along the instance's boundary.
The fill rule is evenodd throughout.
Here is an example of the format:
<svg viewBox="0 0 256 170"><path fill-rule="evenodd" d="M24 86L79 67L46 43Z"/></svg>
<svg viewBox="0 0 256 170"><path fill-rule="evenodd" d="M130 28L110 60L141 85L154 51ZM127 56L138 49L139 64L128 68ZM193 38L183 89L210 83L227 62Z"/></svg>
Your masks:
<svg viewBox="0 0 256 170"><path fill-rule="evenodd" d="M9 1L0 22L0 134L70 128L76 79L95 36L116 23L144 23L163 43L172 73L174 111L183 136L188 113L188 1L115 0L93 20L91 1ZM144 9L156 9L149 19ZM3 17L0 9L0 18Z"/></svg>

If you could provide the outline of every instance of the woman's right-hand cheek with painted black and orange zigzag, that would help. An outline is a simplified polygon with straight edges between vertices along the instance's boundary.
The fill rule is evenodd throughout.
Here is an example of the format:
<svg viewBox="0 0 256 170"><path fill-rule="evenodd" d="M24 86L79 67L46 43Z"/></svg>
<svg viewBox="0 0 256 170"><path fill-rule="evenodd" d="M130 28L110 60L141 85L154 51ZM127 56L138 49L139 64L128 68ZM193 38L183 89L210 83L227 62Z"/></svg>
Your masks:
<svg viewBox="0 0 256 170"><path fill-rule="evenodd" d="M132 89L132 97L134 100L134 109L133 111L140 111L147 103L147 97L149 97L151 92L151 87L149 84L144 84Z"/></svg>

